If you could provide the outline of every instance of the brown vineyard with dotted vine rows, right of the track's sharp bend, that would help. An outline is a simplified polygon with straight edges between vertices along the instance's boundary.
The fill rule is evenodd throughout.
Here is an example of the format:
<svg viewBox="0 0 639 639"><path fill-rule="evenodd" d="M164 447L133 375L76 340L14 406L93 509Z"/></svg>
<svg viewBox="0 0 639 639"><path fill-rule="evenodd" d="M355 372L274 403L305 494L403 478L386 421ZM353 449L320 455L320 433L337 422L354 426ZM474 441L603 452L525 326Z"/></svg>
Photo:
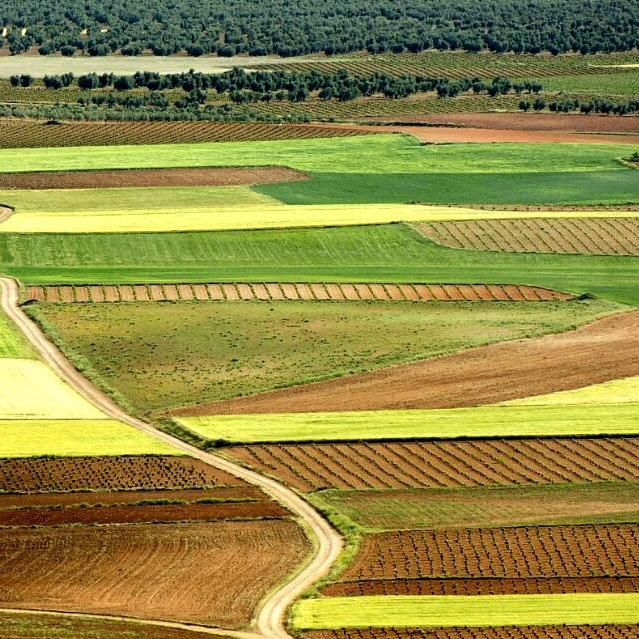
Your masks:
<svg viewBox="0 0 639 639"><path fill-rule="evenodd" d="M408 530L367 535L343 581L639 577L639 525Z"/></svg>

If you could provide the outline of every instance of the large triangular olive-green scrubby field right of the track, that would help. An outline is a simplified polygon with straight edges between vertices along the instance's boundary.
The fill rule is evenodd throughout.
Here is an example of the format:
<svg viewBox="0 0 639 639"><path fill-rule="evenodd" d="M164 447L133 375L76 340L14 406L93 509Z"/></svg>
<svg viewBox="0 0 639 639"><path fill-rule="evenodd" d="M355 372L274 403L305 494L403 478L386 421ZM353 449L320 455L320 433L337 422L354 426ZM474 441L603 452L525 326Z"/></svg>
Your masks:
<svg viewBox="0 0 639 639"><path fill-rule="evenodd" d="M608 302L39 304L77 365L142 412L317 381L560 332Z"/></svg>

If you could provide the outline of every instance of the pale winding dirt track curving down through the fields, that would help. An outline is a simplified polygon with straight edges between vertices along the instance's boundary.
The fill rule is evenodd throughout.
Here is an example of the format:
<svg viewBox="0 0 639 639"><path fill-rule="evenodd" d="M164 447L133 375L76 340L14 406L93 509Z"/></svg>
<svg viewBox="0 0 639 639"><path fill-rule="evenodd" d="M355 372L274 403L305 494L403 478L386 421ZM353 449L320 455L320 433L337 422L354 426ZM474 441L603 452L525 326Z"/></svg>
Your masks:
<svg viewBox="0 0 639 639"><path fill-rule="evenodd" d="M260 486L271 497L295 513L309 529L312 537L314 537L315 556L290 581L273 591L261 603L255 618L255 633L234 632L189 624L174 624L170 626L165 622L149 621L144 623L207 632L218 636L237 637L237 639L255 639L258 636L267 637L268 639L289 639L290 635L285 628L286 612L295 599L329 571L342 550L343 542L340 535L306 501L278 482L242 468L226 459L206 453L172 435L158 431L146 422L127 415L109 397L85 379L62 352L51 344L42 331L23 313L18 306L19 292L19 287L15 280L8 277L0 277L0 307L2 310L15 322L29 342L40 353L42 359L83 397L109 417L148 433L156 439L164 441L215 468ZM87 618L99 618L99 615L85 616ZM143 622L139 621L139 623Z"/></svg>

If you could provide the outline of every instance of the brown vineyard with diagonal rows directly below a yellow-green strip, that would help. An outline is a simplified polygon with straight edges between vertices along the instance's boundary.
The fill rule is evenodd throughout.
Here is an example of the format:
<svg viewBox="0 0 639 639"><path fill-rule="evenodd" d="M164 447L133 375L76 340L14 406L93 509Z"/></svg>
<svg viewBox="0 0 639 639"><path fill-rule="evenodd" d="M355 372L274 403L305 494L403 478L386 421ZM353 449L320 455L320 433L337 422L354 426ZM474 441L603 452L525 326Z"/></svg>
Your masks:
<svg viewBox="0 0 639 639"><path fill-rule="evenodd" d="M224 451L304 492L639 479L639 438L272 444Z"/></svg>

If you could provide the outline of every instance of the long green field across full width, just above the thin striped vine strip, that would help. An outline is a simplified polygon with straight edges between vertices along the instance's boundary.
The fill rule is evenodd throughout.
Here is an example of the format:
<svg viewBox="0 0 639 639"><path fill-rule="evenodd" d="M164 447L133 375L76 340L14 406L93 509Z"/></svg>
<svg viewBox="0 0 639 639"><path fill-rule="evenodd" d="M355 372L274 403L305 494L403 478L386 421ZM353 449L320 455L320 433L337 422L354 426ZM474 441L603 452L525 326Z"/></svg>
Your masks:
<svg viewBox="0 0 639 639"><path fill-rule="evenodd" d="M173 234L7 235L25 283L458 282L590 291L639 305L639 258L451 249L402 224Z"/></svg>

